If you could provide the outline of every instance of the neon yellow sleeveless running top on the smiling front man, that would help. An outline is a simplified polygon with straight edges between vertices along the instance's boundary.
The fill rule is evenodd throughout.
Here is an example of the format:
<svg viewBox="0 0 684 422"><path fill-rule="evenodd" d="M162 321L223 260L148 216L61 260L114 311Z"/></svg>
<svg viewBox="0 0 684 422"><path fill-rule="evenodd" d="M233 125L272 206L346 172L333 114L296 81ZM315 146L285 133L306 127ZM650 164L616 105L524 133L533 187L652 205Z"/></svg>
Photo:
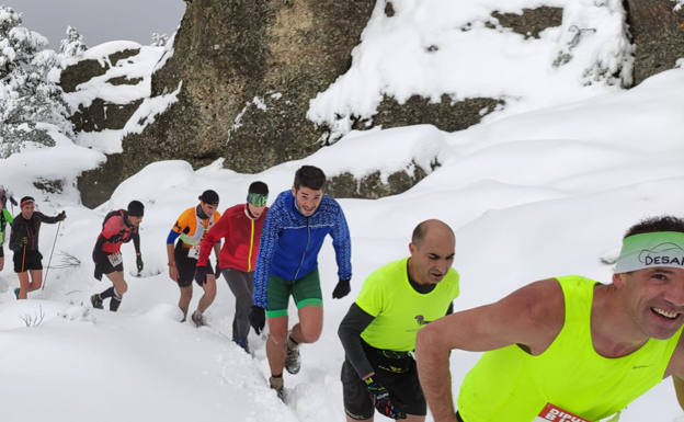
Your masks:
<svg viewBox="0 0 684 422"><path fill-rule="evenodd" d="M593 347L590 326L597 283L574 275L556 280L566 301L562 329L537 356L515 344L486 352L460 386L464 421L531 422L547 403L598 421L662 380L682 329L626 356L603 357Z"/></svg>

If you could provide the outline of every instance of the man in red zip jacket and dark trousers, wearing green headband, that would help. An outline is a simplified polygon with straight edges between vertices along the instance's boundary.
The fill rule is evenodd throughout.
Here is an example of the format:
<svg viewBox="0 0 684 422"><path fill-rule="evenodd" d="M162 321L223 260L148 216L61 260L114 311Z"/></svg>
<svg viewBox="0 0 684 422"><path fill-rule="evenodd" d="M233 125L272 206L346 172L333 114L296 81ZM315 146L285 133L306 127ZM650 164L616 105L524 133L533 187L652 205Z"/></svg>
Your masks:
<svg viewBox="0 0 684 422"><path fill-rule="evenodd" d="M224 212L202 239L195 280L202 283L206 277L207 261L212 246L224 238L224 247L218 256L218 267L236 297L236 312L232 319L232 341L249 353L249 312L254 290L254 264L259 252L259 240L266 217L269 186L254 182L249 186L247 204L235 205Z"/></svg>

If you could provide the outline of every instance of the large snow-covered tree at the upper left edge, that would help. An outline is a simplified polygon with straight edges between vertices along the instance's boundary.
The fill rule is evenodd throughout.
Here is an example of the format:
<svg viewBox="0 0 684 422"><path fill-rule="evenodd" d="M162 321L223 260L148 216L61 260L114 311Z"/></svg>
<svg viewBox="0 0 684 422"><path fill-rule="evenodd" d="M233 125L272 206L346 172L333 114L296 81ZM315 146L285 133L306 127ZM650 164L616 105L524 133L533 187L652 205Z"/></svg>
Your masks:
<svg viewBox="0 0 684 422"><path fill-rule="evenodd" d="M21 14L0 7L0 158L26 146L54 146L53 130L72 136L57 85L57 54L22 26Z"/></svg>

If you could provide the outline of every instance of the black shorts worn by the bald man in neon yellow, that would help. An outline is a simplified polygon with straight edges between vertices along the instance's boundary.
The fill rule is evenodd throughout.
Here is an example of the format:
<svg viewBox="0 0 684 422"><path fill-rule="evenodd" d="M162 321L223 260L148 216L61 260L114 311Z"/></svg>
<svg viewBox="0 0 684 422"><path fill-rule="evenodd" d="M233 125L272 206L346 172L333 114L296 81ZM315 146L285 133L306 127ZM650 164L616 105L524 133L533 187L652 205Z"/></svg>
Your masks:
<svg viewBox="0 0 684 422"><path fill-rule="evenodd" d="M428 406L418 380L418 369L413 357L407 353L386 356L383 354L384 351L365 343L364 350L375 370L373 378L387 388L397 408L408 414L425 415ZM375 407L366 384L358 377L356 369L347 360L344 360L342 364L341 378L346 414L356 420L373 418Z"/></svg>

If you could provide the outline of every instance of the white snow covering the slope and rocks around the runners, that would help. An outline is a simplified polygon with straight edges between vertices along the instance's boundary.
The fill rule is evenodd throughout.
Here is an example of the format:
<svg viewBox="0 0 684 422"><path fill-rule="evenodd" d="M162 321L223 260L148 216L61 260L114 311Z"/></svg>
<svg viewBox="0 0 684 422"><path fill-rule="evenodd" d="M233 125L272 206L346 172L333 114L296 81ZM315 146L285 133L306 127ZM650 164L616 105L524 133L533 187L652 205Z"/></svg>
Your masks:
<svg viewBox="0 0 684 422"><path fill-rule="evenodd" d="M459 20L485 13L474 3L464 2L470 9L464 7L459 12L470 14L461 14ZM535 4L514 3L520 8ZM588 12L593 24L603 30L615 27L616 20L622 19L615 12L617 3L602 2L607 8L605 14ZM401 5L404 10L420 8L419 2L411 1L396 4L398 16ZM395 43L418 34L443 42L440 52L448 50L448 45L471 52L497 46L489 38L491 34L478 35L485 28L465 32L469 38L449 42L437 30L448 27L449 13L458 7L434 4L441 7L431 14L424 8L422 13L414 13L420 25L392 27L391 33L398 36ZM566 13L574 11L575 19L580 11L591 10L570 8ZM355 50L352 68L312 102L310 115L324 121L327 114L321 111L345 106L368 113L377 105L373 105L377 87L402 96L430 93L432 89L447 92L449 83L456 87L454 91L469 87L468 96L509 90L508 94L520 100L516 106L452 134L429 125L351 132L307 159L260 174L236 173L223 169L220 161L196 171L185 161L157 162L122 183L111 199L94 210L80 204L75 178L95 167L104 158L101 151L121 148L116 144L123 133L96 139L81 137L76 144L62 137L54 148L25 150L0 160L0 183L15 197L33 195L44 213L66 209L68 215L57 233L56 225L43 225L45 266L56 239L53 269L45 289L31 293L30 300L14 299L12 289L18 280L12 272L12 252L4 248L5 266L0 272L0 421L344 421L339 381L343 350L338 324L365 276L408 254L411 230L421 220L441 218L456 231L454 266L461 275L461 296L455 309L460 310L497 300L548 276L581 274L607 283L611 267L600 259L617 254L630 225L648 216L683 216L684 70L662 72L630 90L606 81L586 85L583 65L594 58L615 57L619 37L601 38L602 43L592 48L584 45L591 60L559 70L550 66L556 50L548 43L555 39L558 44L561 30L548 30L546 41L501 34L509 39L504 57L510 60L504 64L495 61L503 59L499 54L477 55L478 60L492 60L492 69L516 75L500 81L501 88L492 84L498 80L495 75L478 77L478 72L469 71L461 79L451 75L449 57L454 56L445 55L445 61L435 61L430 69L448 77L431 73L428 79L433 87L412 89L415 75L426 71L424 61L403 60L400 72L388 70L396 68L388 59L368 61L380 50L391 52L376 45L381 44L383 34L372 30L381 23L377 21L381 16L374 16ZM567 23L563 16L563 25ZM430 27L433 31L425 32ZM483 43L486 39L490 41ZM614 44L606 45L606 39ZM159 52L146 56L150 71L159 56ZM140 75L140 64L129 65ZM374 71L384 80L363 77ZM369 82L375 88L362 84ZM140 98L145 90L149 93L146 83L149 78L140 83ZM80 99L70 101L88 101L90 90L104 88L102 81L99 85L92 82L77 91ZM111 99L117 95L110 92ZM365 100L364 93L368 95ZM148 109L155 114L163 106ZM339 128L341 133L347 130L344 124ZM301 372L285 375L287 403L267 388L263 339L250 334L253 357L231 343L233 297L225 280L219 280L217 298L207 310L210 327L196 329L192 322L178 322L179 290L167 274L166 237L175 218L196 204L205 189L219 193L223 212L243 202L247 186L255 180L265 181L274 198L289 189L294 171L304 163L319 166L328 174L350 171L356 176L379 169L387 178L397 169L411 170L414 164L430 169L435 162L438 167L403 194L377 201L340 199L352 233L352 293L341 300L331 299L337 265L327 241L319 256L326 307L323 333L317 343L301 347ZM36 178L65 180L64 192L38 191L32 184ZM88 297L110 286L92 276L91 251L102 218L134 198L146 205L141 225L145 271L141 277L129 274L135 258L133 246L125 246L129 289L121 309L117 313L93 310ZM80 265L59 267L67 263L66 253L80 260ZM191 310L200 292L195 287ZM290 317L296 319L295 315L293 305ZM455 394L478 356L452 354ZM665 380L630 404L620 421L670 422L682 420L681 415L671 383ZM379 414L376 418L387 420Z"/></svg>

